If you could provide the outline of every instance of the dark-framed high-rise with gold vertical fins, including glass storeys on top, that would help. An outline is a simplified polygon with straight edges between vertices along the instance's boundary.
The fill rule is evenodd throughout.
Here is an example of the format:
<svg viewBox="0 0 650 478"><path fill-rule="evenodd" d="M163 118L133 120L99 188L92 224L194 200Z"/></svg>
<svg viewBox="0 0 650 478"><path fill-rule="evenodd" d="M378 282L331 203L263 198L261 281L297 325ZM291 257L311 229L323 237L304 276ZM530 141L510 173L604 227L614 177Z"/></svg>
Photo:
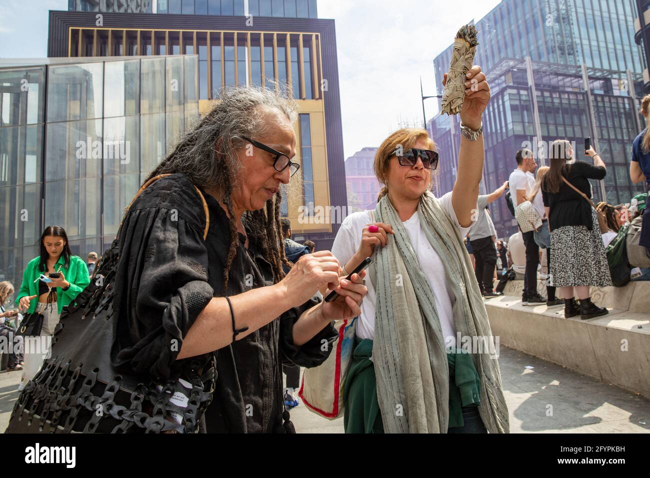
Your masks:
<svg viewBox="0 0 650 478"><path fill-rule="evenodd" d="M301 168L281 211L291 219L294 235L330 248L339 224L313 217L319 207L346 206L343 133L335 25L317 18L316 5L315 0L70 0L70 11L50 12L47 54L198 55L200 114L224 87L283 85L298 102L294 128Z"/></svg>

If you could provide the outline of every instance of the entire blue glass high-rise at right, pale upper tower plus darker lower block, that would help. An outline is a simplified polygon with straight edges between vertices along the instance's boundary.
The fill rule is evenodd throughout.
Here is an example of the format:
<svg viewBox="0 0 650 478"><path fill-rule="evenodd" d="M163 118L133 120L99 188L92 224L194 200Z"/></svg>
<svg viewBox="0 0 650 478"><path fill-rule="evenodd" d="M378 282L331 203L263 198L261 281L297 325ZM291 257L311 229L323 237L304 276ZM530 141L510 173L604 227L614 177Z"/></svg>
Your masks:
<svg viewBox="0 0 650 478"><path fill-rule="evenodd" d="M555 139L584 138L608 166L592 181L595 201L629 202L638 188L629 179L632 140L643 125L636 110L645 55L634 44L633 0L503 0L476 22L480 64L491 86L484 113L486 162L482 193L497 189L528 147L544 164ZM434 60L439 84L451 47ZM437 114L428 129L439 145L439 194L456 180L460 118ZM445 160L447 158L447 160ZM640 191L639 191L640 192ZM499 237L516 231L504 201L490 205Z"/></svg>

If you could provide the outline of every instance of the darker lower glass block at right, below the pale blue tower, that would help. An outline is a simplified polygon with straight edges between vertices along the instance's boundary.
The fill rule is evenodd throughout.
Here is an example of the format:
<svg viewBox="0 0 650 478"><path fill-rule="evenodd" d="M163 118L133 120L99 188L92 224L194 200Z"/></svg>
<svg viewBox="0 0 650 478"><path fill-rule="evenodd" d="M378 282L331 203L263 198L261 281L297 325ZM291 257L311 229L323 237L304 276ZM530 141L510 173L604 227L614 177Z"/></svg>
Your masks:
<svg viewBox="0 0 650 478"><path fill-rule="evenodd" d="M489 72L492 98L483 115L486 156L480 194L491 193L508 180L517 167L515 152L522 147L536 153L539 165L548 165L545 158L549 142L574 142L580 159L585 137L591 137L608 167L603 184L607 202L629 202L634 194L642 193L642 188L633 185L629 178L632 140L643 128L636 111L642 94L642 75L632 73L627 83L627 78L621 78L619 73L588 68L586 88L582 68L578 66L530 62L530 67L533 84L528 81L525 60L504 59ZM532 100L533 91L536 102ZM437 194L451 191L456 181L458 161L453 147L458 152L458 122L458 118L438 114L428 123L441 157ZM603 200L600 182L591 183L594 202ZM490 204L490 211L499 237L516 232L517 223L504 200Z"/></svg>

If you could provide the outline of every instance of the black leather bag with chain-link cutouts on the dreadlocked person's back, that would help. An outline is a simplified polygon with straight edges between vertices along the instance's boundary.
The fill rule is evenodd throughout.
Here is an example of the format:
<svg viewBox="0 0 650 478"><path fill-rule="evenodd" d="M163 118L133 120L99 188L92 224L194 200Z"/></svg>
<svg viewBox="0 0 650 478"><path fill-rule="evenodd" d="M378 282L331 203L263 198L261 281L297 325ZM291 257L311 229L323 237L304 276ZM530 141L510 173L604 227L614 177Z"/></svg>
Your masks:
<svg viewBox="0 0 650 478"><path fill-rule="evenodd" d="M145 183L131 204L149 184L164 176L169 175ZM205 211L205 239L207 203L200 190L196 191ZM64 308L62 327L53 337L51 358L25 385L6 432L198 431L214 392L213 354L186 359L181 375L165 383L112 367L112 285L121 229L120 224L117 239L99 260L94 280ZM181 423L173 418L180 418Z"/></svg>

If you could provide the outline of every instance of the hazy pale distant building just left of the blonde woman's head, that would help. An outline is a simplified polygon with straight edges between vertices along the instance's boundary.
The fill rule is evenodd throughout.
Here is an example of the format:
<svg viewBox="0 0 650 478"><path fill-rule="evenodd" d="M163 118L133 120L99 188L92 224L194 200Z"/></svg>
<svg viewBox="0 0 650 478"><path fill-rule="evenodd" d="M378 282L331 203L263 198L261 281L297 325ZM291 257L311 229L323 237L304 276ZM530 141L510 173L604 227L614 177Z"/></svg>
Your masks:
<svg viewBox="0 0 650 478"><path fill-rule="evenodd" d="M380 184L374 175L376 152L377 148L361 148L361 151L357 151L345 160L348 207L365 210L374 209L377 206Z"/></svg>

